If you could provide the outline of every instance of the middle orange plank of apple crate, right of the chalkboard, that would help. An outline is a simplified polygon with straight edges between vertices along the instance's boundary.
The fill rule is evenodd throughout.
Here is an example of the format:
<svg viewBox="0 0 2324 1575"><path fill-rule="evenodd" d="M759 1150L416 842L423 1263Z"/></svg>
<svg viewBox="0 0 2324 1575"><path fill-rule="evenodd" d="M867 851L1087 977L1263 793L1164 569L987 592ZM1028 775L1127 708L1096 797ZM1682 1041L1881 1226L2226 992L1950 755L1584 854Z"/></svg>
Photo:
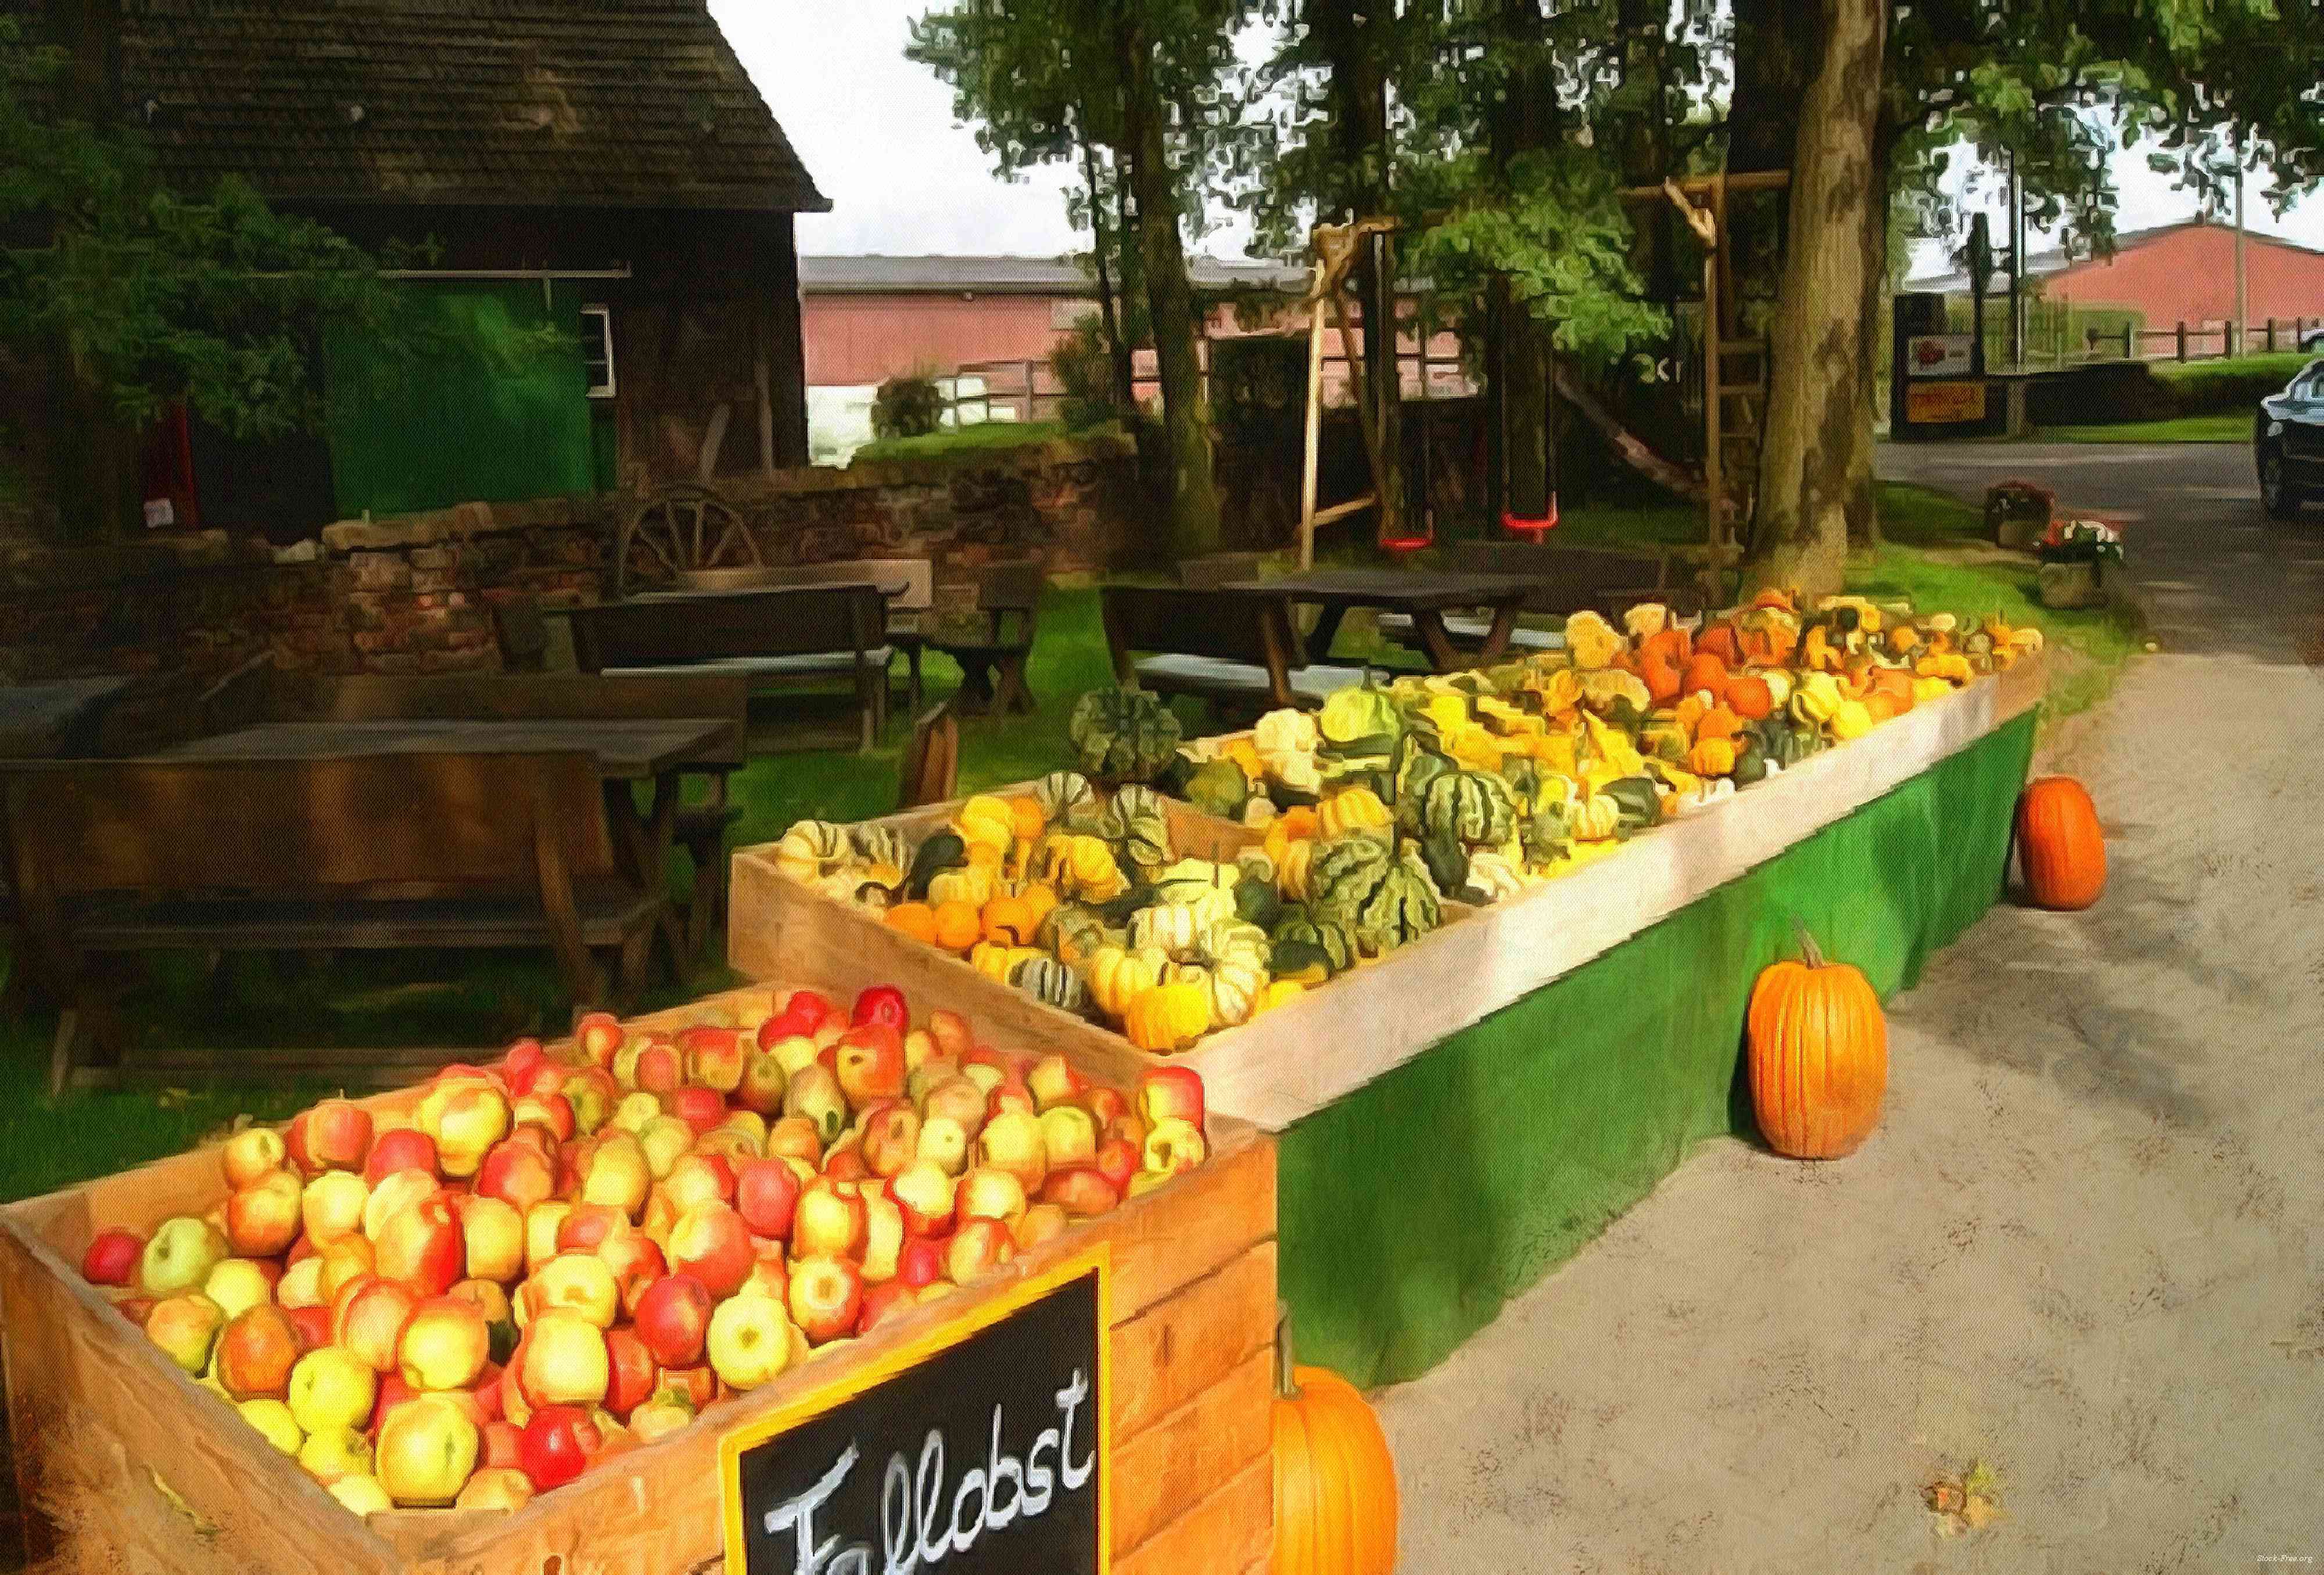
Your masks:
<svg viewBox="0 0 2324 1575"><path fill-rule="evenodd" d="M1276 1347L1276 1243L1262 1240L1113 1331L1113 1438L1162 1417Z"/></svg>

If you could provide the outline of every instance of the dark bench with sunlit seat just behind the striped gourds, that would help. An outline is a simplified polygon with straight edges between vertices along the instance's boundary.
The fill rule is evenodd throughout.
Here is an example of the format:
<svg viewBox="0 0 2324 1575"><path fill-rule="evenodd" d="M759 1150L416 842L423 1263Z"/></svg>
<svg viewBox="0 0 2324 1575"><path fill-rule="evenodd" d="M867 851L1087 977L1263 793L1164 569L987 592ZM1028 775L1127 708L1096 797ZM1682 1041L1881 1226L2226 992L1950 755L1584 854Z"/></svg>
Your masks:
<svg viewBox="0 0 2324 1575"><path fill-rule="evenodd" d="M1360 667L1308 664L1287 597L1106 585L1104 618L1116 681L1155 695L1313 709L1364 681Z"/></svg>

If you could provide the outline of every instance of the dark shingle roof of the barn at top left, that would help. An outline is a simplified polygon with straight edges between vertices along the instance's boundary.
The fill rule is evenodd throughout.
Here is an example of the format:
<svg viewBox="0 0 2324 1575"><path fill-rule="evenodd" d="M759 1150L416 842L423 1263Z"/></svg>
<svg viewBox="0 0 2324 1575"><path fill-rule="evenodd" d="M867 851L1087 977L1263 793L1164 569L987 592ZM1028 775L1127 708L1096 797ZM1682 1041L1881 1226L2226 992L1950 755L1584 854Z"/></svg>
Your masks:
<svg viewBox="0 0 2324 1575"><path fill-rule="evenodd" d="M53 0L0 0L37 12ZM704 0L121 0L172 184L274 200L823 211Z"/></svg>

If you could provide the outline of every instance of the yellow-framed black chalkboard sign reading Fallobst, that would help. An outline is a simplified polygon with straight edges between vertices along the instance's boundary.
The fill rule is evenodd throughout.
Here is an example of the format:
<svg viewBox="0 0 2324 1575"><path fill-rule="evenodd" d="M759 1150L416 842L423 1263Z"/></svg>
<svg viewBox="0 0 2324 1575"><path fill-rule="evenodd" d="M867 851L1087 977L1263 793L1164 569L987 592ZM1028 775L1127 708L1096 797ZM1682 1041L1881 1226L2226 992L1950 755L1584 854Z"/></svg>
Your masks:
<svg viewBox="0 0 2324 1575"><path fill-rule="evenodd" d="M1106 1264L1099 1243L727 1433L730 1575L1102 1575Z"/></svg>

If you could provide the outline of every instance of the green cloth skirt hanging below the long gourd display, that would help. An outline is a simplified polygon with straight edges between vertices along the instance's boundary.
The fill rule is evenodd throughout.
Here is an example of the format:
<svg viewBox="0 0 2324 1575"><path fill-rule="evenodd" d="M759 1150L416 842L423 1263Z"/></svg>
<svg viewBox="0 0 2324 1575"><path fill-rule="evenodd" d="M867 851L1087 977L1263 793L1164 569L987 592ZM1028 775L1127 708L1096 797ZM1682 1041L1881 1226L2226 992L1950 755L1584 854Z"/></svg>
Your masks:
<svg viewBox="0 0 2324 1575"><path fill-rule="evenodd" d="M1694 1143L1755 1136L1743 1008L1794 915L1910 987L2001 894L2031 755L2024 715L1285 1131L1299 1359L1418 1378Z"/></svg>

